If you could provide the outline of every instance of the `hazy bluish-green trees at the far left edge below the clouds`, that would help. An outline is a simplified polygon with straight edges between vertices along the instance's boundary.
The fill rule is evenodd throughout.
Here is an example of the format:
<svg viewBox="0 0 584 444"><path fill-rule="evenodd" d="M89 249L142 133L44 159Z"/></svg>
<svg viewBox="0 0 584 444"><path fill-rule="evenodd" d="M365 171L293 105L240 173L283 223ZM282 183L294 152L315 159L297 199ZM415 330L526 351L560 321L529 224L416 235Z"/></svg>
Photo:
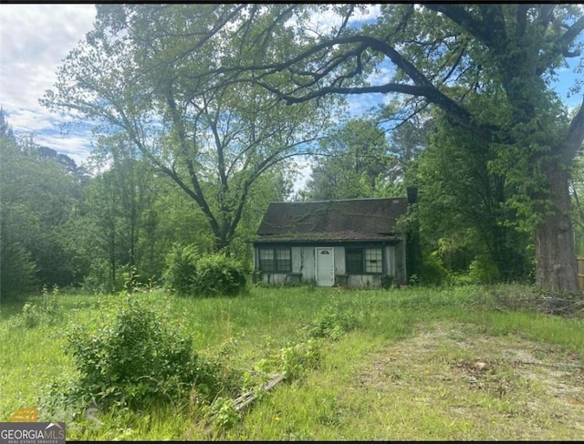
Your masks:
<svg viewBox="0 0 584 444"><path fill-rule="evenodd" d="M0 163L2 293L26 294L35 284L33 273L37 282L71 284L86 263L78 255L71 223L80 202L82 171L32 137L16 142L1 136ZM20 279L23 288L18 289Z"/></svg>

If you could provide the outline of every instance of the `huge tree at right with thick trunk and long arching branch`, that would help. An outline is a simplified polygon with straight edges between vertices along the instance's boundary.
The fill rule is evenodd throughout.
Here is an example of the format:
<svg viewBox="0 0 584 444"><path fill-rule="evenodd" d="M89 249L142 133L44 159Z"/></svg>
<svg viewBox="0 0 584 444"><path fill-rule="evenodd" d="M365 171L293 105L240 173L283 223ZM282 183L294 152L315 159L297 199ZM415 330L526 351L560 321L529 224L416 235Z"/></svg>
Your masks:
<svg viewBox="0 0 584 444"><path fill-rule="evenodd" d="M360 6L334 8L339 26L315 30L307 6L298 6L296 51L256 64L242 59L214 74L247 73L289 104L381 93L397 95L412 115L441 109L493 146L492 168L516 184L508 203L534 232L537 284L576 290L568 180L584 139L584 108L568 119L549 85L567 58L580 56L582 6L382 5L364 26L351 21Z"/></svg>

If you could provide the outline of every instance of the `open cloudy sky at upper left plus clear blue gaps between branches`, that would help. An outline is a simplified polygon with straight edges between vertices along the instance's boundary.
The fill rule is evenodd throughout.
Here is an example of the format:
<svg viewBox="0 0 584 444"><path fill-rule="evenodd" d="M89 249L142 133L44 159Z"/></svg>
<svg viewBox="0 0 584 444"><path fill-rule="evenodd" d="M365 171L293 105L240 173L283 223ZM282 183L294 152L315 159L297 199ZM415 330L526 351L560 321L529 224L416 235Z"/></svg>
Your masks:
<svg viewBox="0 0 584 444"><path fill-rule="evenodd" d="M67 154L78 164L91 150L89 129L61 134L59 124L67 117L49 112L38 99L53 86L61 60L89 32L95 15L95 5L90 4L0 4L0 106L8 123L16 136L33 134L36 143ZM568 106L576 107L581 98L566 97L572 83L573 74L565 69L555 88ZM350 101L353 112L372 103L363 97Z"/></svg>

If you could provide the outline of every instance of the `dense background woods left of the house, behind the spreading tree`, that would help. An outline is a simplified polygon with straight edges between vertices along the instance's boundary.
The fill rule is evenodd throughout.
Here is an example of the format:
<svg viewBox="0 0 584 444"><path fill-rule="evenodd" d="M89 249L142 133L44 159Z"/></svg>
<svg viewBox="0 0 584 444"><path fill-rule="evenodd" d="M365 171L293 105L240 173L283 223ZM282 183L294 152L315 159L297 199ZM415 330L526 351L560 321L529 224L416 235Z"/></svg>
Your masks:
<svg viewBox="0 0 584 444"><path fill-rule="evenodd" d="M43 284L108 293L130 273L142 284L161 284L173 245L214 251L214 234L195 202L135 152L96 150L78 167L31 137L16 139L4 112L0 124L3 298ZM229 252L243 262L251 263L245 240L267 202L285 198L283 183L272 172L251 193Z"/></svg>

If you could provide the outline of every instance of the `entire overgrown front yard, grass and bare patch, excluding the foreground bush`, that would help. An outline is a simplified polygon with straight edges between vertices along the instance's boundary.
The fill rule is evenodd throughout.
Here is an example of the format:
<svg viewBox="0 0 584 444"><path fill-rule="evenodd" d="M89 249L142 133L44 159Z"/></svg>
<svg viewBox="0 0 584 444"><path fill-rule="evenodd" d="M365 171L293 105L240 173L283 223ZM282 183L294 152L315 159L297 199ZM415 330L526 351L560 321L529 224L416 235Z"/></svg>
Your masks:
<svg viewBox="0 0 584 444"><path fill-rule="evenodd" d="M584 317L514 306L526 294L519 285L253 288L206 299L133 294L185 325L197 350L250 374L306 343L315 320L340 314L352 324L318 341L317 365L299 368L228 427L190 404L98 406L99 426L68 423L68 439L581 439ZM47 297L28 300L42 306ZM17 321L26 300L1 306L0 421L36 407L48 384L74 372L63 351L70 323L89 323L120 304L120 295L51 297L54 318L28 327Z"/></svg>

